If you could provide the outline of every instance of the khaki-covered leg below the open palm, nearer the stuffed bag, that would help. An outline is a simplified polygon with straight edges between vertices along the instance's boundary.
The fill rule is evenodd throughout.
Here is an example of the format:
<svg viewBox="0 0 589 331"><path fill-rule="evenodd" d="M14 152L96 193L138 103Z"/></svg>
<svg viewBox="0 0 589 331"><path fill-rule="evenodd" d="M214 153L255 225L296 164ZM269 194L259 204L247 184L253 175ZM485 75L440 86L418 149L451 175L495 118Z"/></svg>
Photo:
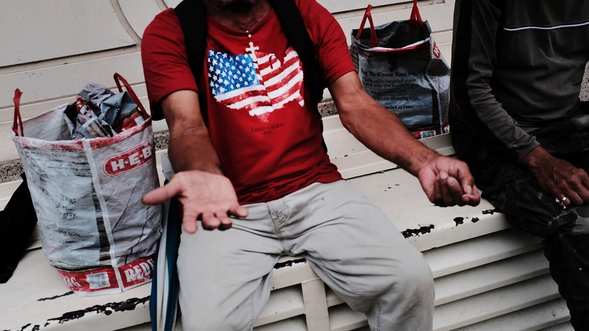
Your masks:
<svg viewBox="0 0 589 331"><path fill-rule="evenodd" d="M183 232L178 251L184 329L249 330L270 294L282 247L266 230L267 208L256 204L226 231ZM264 234L266 234L264 236Z"/></svg>

